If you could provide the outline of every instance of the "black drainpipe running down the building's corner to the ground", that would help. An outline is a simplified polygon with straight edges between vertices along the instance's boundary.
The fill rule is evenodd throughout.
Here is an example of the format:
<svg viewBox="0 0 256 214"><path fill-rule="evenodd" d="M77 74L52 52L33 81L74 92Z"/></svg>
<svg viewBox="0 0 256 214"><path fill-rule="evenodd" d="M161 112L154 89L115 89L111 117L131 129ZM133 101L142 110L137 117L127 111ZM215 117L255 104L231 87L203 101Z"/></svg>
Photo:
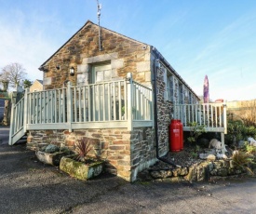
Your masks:
<svg viewBox="0 0 256 214"><path fill-rule="evenodd" d="M160 161L168 163L173 167L181 167L180 165L174 164L172 161L167 160L164 157L159 156L159 141L158 141L158 117L157 117L157 67L159 66L159 59L154 61L154 117L155 117L155 148L156 148L156 158Z"/></svg>

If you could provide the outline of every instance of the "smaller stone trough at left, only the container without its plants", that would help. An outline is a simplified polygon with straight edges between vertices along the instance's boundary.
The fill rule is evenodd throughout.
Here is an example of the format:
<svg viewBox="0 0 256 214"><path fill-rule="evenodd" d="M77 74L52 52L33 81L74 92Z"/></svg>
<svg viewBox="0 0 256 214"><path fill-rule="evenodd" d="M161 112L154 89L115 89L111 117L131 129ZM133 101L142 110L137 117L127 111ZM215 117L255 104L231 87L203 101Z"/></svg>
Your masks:
<svg viewBox="0 0 256 214"><path fill-rule="evenodd" d="M52 165L52 166L59 166L61 162L61 157L67 155L65 152L56 152L53 154L42 152L42 151L36 151L35 155L37 159L44 164Z"/></svg>

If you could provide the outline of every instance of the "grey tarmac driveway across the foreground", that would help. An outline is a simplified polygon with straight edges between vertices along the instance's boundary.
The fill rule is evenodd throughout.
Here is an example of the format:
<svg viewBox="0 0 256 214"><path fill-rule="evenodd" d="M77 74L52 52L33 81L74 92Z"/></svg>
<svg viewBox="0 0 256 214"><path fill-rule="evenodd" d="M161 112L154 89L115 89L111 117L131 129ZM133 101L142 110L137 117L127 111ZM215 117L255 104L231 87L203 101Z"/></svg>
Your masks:
<svg viewBox="0 0 256 214"><path fill-rule="evenodd" d="M131 184L103 174L76 181L38 162L25 144L0 145L0 213L256 213L255 201L253 178Z"/></svg>

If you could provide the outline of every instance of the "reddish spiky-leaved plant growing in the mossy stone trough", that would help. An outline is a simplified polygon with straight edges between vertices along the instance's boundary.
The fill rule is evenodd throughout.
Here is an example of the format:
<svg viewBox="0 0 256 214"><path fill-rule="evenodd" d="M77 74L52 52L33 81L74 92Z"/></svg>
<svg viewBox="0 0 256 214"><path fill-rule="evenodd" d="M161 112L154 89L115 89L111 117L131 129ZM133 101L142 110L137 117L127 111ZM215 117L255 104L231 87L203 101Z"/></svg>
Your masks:
<svg viewBox="0 0 256 214"><path fill-rule="evenodd" d="M77 140L75 143L75 152L77 153L77 160L81 162L86 162L88 159L88 153L91 151L92 147L87 138L82 138Z"/></svg>

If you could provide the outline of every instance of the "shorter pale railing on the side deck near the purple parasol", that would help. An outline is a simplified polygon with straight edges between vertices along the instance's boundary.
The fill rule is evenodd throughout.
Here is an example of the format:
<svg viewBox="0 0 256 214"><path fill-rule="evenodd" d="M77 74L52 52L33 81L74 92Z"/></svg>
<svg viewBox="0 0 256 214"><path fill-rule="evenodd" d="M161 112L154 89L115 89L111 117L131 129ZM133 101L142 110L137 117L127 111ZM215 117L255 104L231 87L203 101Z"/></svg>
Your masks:
<svg viewBox="0 0 256 214"><path fill-rule="evenodd" d="M190 123L204 125L207 131L226 133L225 103L176 104L174 118L181 119L183 130L189 130Z"/></svg>

